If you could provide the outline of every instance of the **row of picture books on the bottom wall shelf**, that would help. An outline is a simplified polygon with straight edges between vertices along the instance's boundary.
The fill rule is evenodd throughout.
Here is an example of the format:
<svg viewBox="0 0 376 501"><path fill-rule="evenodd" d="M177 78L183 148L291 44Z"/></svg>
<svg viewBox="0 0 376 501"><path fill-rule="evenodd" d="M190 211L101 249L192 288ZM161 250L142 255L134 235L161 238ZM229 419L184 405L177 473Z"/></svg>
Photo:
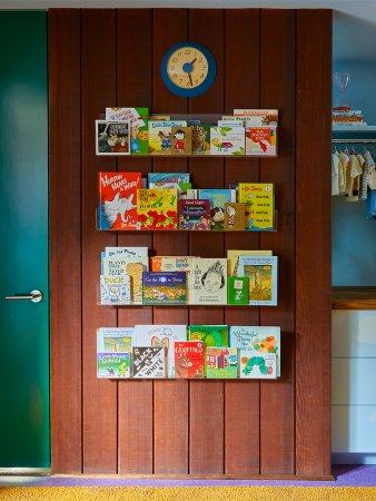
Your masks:
<svg viewBox="0 0 376 501"><path fill-rule="evenodd" d="M280 327L136 325L97 330L99 379L276 379Z"/></svg>

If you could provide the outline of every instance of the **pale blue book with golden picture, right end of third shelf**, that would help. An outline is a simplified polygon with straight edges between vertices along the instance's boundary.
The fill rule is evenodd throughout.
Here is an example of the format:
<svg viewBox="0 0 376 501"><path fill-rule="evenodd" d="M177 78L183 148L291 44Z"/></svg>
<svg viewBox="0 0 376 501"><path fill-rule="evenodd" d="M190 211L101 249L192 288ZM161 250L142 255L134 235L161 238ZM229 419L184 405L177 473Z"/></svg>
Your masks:
<svg viewBox="0 0 376 501"><path fill-rule="evenodd" d="M240 256L238 276L248 277L249 304L277 305L277 256Z"/></svg>

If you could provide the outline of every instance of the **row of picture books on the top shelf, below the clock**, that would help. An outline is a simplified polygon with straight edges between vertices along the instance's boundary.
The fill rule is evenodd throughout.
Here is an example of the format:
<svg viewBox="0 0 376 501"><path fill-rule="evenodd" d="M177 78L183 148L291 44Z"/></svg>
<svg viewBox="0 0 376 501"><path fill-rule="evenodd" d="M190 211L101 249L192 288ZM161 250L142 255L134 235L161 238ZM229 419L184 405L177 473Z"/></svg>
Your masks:
<svg viewBox="0 0 376 501"><path fill-rule="evenodd" d="M217 124L106 108L96 120L97 155L277 155L278 110L235 109Z"/></svg>

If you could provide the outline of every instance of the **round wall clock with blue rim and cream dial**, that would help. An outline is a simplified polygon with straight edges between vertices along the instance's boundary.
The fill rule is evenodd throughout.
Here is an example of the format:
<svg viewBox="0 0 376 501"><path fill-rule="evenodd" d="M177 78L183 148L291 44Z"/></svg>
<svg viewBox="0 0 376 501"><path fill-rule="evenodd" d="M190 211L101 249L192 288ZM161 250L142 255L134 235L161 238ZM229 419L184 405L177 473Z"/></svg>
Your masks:
<svg viewBox="0 0 376 501"><path fill-rule="evenodd" d="M216 78L216 61L209 50L192 42L181 42L165 55L160 72L166 87L180 97L206 92Z"/></svg>

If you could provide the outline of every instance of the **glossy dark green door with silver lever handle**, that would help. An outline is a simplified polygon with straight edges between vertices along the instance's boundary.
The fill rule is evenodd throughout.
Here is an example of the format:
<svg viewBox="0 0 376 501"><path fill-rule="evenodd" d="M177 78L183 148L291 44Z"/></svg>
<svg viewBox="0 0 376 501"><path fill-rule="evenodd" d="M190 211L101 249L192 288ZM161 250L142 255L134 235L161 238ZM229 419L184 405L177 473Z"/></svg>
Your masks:
<svg viewBox="0 0 376 501"><path fill-rule="evenodd" d="M0 469L50 466L47 12L0 11ZM39 289L41 302L27 298Z"/></svg>

